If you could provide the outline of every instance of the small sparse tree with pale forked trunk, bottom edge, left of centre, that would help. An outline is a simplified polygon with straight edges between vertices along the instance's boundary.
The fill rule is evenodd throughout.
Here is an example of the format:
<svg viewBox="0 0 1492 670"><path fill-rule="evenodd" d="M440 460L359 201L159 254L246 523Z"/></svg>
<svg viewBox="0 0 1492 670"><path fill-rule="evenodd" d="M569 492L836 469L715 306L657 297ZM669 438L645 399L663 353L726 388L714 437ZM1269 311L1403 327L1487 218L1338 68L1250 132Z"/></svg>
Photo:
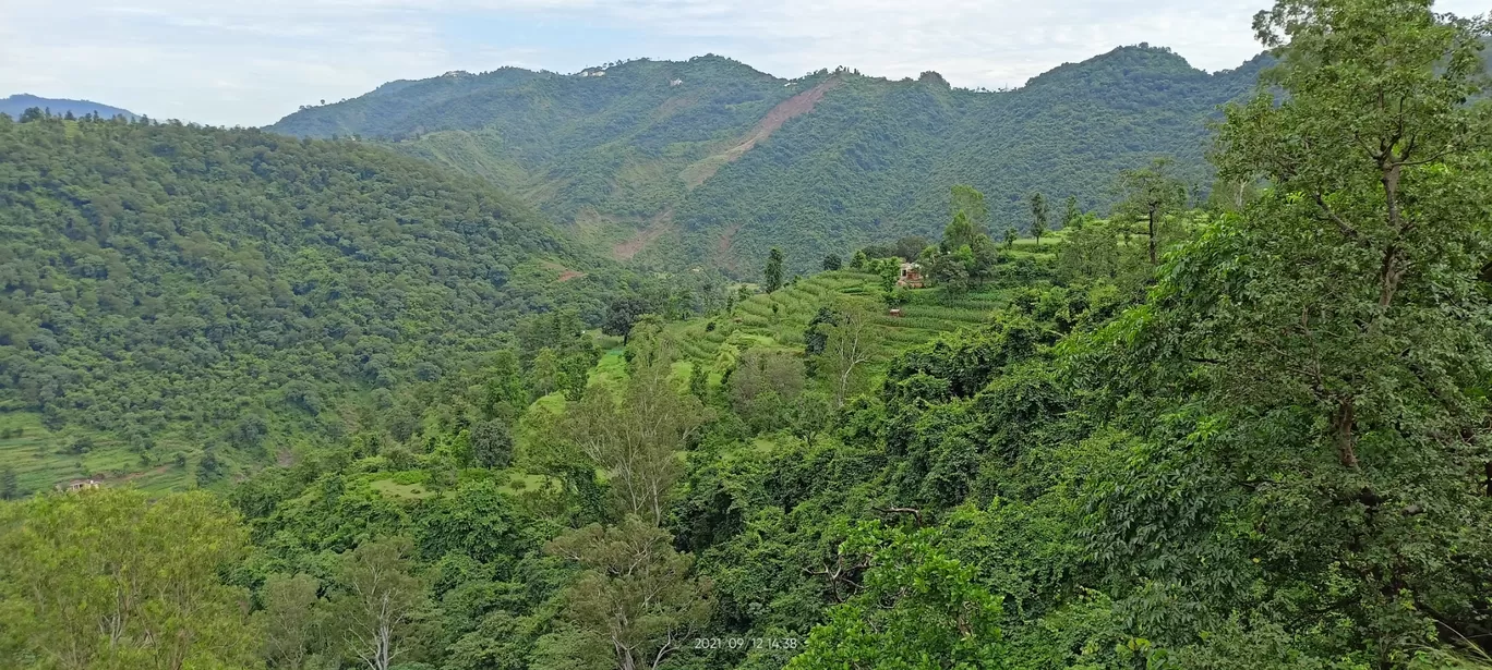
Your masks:
<svg viewBox="0 0 1492 670"><path fill-rule="evenodd" d="M425 604L413 575L407 537L364 542L342 554L331 599L346 651L370 670L389 670L409 649L409 633Z"/></svg>

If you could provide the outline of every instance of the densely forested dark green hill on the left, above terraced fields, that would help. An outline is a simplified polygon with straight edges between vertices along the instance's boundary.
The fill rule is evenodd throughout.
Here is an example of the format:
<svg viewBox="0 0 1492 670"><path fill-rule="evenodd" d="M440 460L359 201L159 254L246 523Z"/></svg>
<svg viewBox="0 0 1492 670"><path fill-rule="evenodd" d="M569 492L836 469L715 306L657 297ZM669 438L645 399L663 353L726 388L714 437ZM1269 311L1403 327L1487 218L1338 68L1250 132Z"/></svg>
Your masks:
<svg viewBox="0 0 1492 670"><path fill-rule="evenodd" d="M140 465L172 427L255 450L339 429L339 398L440 378L524 313L594 317L609 264L382 147L0 118L0 399Z"/></svg>

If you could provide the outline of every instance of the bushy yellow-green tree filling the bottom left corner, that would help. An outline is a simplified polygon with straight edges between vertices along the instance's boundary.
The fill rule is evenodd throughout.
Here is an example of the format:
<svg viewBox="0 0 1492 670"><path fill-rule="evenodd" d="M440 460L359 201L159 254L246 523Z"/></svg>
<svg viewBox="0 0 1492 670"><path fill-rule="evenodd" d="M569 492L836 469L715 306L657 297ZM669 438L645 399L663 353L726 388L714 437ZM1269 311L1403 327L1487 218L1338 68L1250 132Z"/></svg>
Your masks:
<svg viewBox="0 0 1492 670"><path fill-rule="evenodd" d="M3 505L4 634L39 667L261 667L248 593L221 578L246 548L239 518L201 491Z"/></svg>

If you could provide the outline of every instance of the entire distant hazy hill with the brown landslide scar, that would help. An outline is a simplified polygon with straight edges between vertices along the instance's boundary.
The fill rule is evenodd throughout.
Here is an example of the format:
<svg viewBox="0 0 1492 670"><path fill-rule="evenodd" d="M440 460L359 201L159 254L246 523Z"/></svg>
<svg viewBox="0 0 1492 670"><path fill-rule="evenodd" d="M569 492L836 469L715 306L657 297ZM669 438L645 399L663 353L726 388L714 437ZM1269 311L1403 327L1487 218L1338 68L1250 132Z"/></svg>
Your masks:
<svg viewBox="0 0 1492 670"><path fill-rule="evenodd" d="M1026 226L1032 191L1104 208L1112 176L1155 155L1210 186L1206 122L1262 66L1209 74L1141 45L1001 92L952 89L937 73L785 80L719 57L504 68L388 83L270 130L392 141L528 198L618 258L745 277L788 238L789 271L804 271L830 252L935 232L955 183L989 194L997 232Z"/></svg>

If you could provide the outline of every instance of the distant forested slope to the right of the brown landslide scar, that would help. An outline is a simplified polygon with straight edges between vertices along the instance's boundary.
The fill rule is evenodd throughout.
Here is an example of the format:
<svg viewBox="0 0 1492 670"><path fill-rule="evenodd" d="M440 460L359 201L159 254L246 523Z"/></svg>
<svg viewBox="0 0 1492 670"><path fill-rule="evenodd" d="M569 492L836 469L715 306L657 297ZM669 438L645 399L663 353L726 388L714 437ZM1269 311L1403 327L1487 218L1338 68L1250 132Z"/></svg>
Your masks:
<svg viewBox="0 0 1492 670"><path fill-rule="evenodd" d="M986 194L997 234L1029 225L1037 191L1107 208L1113 177L1155 155L1176 156L1206 188L1206 124L1252 89L1259 67L1207 74L1170 52L1122 49L1010 92L850 80L691 192L677 220L694 256L709 258L730 231L722 265L755 268L794 240L788 264L801 271L825 253L935 234L956 183Z"/></svg>

